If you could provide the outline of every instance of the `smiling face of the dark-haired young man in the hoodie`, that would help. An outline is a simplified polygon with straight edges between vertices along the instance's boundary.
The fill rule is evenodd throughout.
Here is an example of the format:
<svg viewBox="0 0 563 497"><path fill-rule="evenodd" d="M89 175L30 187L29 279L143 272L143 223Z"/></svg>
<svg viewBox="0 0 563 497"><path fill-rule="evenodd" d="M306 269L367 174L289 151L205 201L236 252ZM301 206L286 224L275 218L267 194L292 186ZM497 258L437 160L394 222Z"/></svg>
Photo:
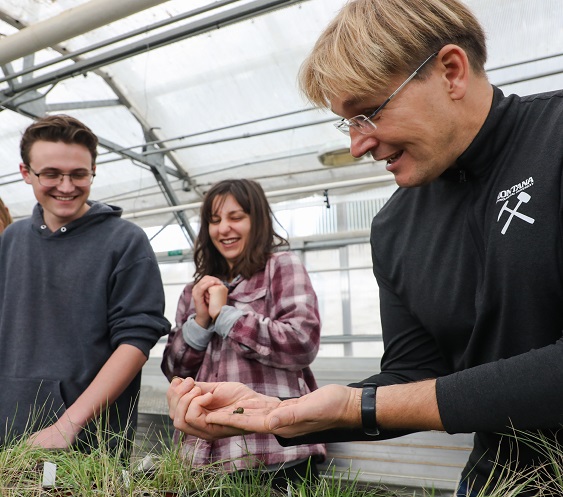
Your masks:
<svg viewBox="0 0 563 497"><path fill-rule="evenodd" d="M30 150L29 166L35 173L60 172L69 174L79 171L93 171L92 155L80 144L64 142L36 141ZM69 176L64 176L58 186L41 185L39 178L25 164L20 164L20 172L26 183L33 187L35 198L43 207L45 224L51 231L83 216L90 208L86 203L90 195L90 185L76 187Z"/></svg>

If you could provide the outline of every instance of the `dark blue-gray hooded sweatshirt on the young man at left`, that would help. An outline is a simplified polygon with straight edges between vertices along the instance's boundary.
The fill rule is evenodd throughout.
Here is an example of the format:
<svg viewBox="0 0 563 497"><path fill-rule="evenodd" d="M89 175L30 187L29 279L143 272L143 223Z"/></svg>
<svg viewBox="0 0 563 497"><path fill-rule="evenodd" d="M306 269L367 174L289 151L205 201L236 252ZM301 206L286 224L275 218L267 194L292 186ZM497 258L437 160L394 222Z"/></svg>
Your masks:
<svg viewBox="0 0 563 497"><path fill-rule="evenodd" d="M145 233L121 209L88 203L54 233L38 204L0 237L0 441L30 412L34 430L52 423L119 345L148 357L170 330ZM113 431L136 426L139 390L140 374L110 409Z"/></svg>

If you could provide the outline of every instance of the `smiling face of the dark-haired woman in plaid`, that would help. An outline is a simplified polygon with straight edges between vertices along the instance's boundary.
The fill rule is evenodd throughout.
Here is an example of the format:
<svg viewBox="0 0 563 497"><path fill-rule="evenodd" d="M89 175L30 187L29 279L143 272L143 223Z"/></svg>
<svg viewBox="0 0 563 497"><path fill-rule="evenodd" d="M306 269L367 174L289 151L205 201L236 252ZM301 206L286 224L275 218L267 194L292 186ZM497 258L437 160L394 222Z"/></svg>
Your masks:
<svg viewBox="0 0 563 497"><path fill-rule="evenodd" d="M209 237L232 269L247 246L250 216L230 194L215 197L211 212Z"/></svg>

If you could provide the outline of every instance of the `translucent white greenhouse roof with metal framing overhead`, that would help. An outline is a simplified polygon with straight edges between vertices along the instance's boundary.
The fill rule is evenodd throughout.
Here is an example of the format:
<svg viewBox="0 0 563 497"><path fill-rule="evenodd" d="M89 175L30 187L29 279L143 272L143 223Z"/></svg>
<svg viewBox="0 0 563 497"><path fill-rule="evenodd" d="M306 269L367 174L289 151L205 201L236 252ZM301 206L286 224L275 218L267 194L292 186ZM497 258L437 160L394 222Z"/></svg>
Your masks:
<svg viewBox="0 0 563 497"><path fill-rule="evenodd" d="M212 183L254 178L271 201L390 183L345 149L299 93L300 63L344 0L0 0L0 196L35 203L18 143L37 116L67 113L100 137L91 197L144 226L189 218ZM467 0L505 93L563 87L562 0ZM392 180L391 180L392 182ZM175 209L174 206L182 206Z"/></svg>

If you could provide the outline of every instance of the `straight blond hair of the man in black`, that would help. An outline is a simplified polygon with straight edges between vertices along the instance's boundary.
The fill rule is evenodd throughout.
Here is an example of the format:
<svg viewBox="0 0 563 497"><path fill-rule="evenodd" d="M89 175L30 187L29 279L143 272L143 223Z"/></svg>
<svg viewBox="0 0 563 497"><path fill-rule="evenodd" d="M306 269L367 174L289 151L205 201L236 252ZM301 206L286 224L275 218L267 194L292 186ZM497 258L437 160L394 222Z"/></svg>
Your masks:
<svg viewBox="0 0 563 497"><path fill-rule="evenodd" d="M320 107L338 95L366 97L450 43L463 48L473 71L484 75L485 34L457 0L352 0L303 62L300 86Z"/></svg>

